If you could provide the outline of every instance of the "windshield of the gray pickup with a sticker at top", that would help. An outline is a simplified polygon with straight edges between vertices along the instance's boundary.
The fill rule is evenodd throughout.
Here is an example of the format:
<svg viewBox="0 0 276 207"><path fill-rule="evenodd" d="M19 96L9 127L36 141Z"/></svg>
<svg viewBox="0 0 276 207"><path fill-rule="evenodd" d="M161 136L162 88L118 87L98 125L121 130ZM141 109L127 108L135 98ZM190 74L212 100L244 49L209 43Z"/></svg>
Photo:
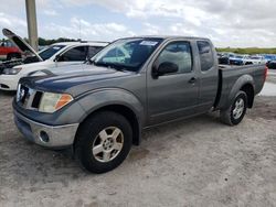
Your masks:
<svg viewBox="0 0 276 207"><path fill-rule="evenodd" d="M162 39L124 39L100 51L92 62L98 66L138 72Z"/></svg>

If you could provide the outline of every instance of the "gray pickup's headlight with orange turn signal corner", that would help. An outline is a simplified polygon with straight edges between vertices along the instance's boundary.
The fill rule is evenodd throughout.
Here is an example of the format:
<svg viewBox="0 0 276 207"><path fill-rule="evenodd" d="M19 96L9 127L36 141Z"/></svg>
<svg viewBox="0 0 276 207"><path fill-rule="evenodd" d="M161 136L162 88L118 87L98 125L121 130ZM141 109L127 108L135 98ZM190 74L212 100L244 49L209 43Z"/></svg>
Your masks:
<svg viewBox="0 0 276 207"><path fill-rule="evenodd" d="M52 113L63 108L72 100L72 96L67 94L44 92L40 101L39 111Z"/></svg>

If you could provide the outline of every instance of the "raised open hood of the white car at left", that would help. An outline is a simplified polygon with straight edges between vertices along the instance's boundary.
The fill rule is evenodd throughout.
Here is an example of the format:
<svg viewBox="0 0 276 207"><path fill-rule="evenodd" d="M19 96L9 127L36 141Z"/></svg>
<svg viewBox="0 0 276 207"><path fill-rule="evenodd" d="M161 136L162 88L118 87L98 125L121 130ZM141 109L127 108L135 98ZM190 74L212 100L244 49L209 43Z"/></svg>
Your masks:
<svg viewBox="0 0 276 207"><path fill-rule="evenodd" d="M14 34L12 31L8 29L3 29L2 33L4 36L7 36L11 42L13 42L19 50L23 54L28 54L28 56L35 56L39 61L43 61L41 56L31 47L23 39L21 39L19 35Z"/></svg>

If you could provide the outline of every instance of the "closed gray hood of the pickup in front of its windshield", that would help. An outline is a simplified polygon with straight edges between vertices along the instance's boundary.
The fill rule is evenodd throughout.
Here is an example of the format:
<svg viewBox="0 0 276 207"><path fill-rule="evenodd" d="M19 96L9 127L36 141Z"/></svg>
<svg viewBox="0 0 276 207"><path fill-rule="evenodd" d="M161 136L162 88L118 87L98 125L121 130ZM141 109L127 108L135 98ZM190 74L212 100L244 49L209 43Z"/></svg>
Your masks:
<svg viewBox="0 0 276 207"><path fill-rule="evenodd" d="M21 78L20 83L42 91L71 92L77 96L91 90L91 86L100 86L105 80L131 76L134 72L118 72L113 68L99 67L88 64L71 65L52 69L42 69ZM112 81L109 81L112 83ZM107 85L105 85L107 86ZM73 88L77 88L74 90Z"/></svg>

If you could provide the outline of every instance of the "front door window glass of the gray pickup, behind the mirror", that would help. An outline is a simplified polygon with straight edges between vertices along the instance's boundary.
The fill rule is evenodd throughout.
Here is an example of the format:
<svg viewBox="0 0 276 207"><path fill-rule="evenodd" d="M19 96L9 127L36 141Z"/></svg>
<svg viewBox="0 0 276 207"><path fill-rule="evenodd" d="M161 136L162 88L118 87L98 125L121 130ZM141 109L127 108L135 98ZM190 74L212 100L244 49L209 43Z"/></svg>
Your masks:
<svg viewBox="0 0 276 207"><path fill-rule="evenodd" d="M157 66L162 63L174 63L178 65L178 73L191 73L192 70L192 54L191 46L188 42L173 42L168 44L157 58Z"/></svg>

